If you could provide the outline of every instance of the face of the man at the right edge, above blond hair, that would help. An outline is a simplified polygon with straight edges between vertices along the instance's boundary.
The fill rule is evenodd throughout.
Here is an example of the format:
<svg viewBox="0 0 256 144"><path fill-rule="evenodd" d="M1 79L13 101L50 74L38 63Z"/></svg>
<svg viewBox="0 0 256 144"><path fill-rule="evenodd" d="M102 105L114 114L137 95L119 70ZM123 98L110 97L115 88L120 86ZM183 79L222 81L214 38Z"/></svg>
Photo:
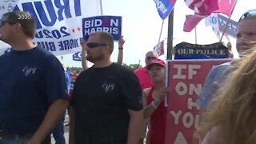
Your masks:
<svg viewBox="0 0 256 144"><path fill-rule="evenodd" d="M238 24L237 30L237 50L238 54L249 50L256 44L256 18L244 19Z"/></svg>

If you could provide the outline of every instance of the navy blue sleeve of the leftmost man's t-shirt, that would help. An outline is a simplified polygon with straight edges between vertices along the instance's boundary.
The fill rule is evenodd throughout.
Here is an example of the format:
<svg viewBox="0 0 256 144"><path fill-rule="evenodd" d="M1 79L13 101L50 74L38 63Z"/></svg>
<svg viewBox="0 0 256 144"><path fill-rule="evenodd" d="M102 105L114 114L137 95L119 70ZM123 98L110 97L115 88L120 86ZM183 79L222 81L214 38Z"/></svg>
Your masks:
<svg viewBox="0 0 256 144"><path fill-rule="evenodd" d="M46 94L48 102L57 99L68 99L65 71L54 55L46 58Z"/></svg>

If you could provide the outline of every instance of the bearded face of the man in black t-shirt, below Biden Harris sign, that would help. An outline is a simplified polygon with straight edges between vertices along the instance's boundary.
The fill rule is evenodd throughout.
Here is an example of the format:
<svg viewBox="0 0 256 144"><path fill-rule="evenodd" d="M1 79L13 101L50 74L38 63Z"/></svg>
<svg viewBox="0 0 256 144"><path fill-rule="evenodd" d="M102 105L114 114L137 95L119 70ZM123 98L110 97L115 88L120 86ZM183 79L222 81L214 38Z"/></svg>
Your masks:
<svg viewBox="0 0 256 144"><path fill-rule="evenodd" d="M90 36L88 39L88 42L86 42L86 59L90 62L95 62L102 60L104 58L104 46L90 46L90 44L100 44L101 42L99 41L99 36L98 35L93 35Z"/></svg>

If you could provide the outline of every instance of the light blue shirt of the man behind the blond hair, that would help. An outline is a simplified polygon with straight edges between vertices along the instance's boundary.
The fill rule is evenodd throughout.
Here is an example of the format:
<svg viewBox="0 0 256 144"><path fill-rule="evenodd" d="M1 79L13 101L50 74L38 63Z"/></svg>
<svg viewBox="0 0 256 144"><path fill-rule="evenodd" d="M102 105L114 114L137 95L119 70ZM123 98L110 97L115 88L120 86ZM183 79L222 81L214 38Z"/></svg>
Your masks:
<svg viewBox="0 0 256 144"><path fill-rule="evenodd" d="M226 82L226 78L231 72L230 62L215 66L206 78L202 91L198 97L198 104L206 109L210 101L217 94L220 87Z"/></svg>

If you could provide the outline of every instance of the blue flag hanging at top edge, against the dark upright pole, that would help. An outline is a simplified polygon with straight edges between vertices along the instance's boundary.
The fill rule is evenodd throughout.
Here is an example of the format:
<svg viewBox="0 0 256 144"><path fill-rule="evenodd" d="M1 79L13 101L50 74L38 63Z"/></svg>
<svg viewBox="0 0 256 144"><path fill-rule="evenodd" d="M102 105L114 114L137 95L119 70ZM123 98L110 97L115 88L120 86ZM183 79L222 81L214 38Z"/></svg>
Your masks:
<svg viewBox="0 0 256 144"><path fill-rule="evenodd" d="M166 19L169 16L171 10L174 9L176 1L177 0L154 0L158 14L163 20Z"/></svg>

